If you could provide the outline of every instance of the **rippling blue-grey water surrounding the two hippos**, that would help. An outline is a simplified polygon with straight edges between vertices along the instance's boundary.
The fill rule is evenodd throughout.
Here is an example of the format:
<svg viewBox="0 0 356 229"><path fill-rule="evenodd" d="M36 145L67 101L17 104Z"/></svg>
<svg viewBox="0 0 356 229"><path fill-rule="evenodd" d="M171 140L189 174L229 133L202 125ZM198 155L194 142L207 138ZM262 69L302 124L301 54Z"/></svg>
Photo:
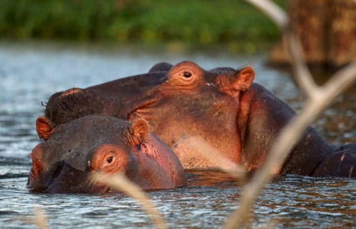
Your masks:
<svg viewBox="0 0 356 229"><path fill-rule="evenodd" d="M261 83L293 108L303 98L289 76L262 63L265 55L172 54L132 48L0 43L0 228L36 228L34 208L50 228L152 228L151 219L122 194L30 193L28 154L38 144L35 121L54 92L148 71L155 63L191 60L205 69L252 64ZM335 144L356 142L356 87L325 111L314 127ZM242 186L217 171L195 171L189 186L150 192L171 228L219 228L237 208ZM261 193L252 226L356 228L356 180L278 177Z"/></svg>

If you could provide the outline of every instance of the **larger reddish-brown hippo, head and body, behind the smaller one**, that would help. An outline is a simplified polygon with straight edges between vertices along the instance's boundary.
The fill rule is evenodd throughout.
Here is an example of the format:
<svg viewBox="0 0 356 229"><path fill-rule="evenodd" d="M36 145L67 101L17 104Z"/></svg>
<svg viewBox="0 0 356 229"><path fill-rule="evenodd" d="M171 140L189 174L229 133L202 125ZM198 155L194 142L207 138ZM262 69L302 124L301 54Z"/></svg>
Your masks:
<svg viewBox="0 0 356 229"><path fill-rule="evenodd" d="M54 123L88 114L142 118L185 168L221 166L220 159L228 158L252 171L261 166L275 136L295 115L286 103L253 83L254 76L251 67L205 71L189 61L162 63L146 74L56 93L45 115ZM192 139L210 146L211 152L204 154L218 152L221 158L206 159ZM337 148L308 128L276 173L356 177L355 152L356 145Z"/></svg>

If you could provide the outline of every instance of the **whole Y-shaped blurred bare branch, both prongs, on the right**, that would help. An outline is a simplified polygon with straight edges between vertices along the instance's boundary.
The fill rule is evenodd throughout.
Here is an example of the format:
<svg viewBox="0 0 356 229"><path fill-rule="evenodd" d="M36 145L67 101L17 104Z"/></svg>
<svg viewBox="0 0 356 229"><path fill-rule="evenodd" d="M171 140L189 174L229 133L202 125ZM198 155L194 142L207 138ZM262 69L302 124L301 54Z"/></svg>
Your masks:
<svg viewBox="0 0 356 229"><path fill-rule="evenodd" d="M301 89L308 95L305 107L284 127L269 151L269 154L259 171L253 176L250 184L245 188L240 208L232 213L225 228L239 228L248 221L249 210L257 194L268 183L276 167L280 167L294 142L298 141L305 129L316 119L335 98L356 81L356 63L337 72L328 82L318 87L306 66L301 50L300 40L293 34L288 16L278 6L269 0L246 0L255 5L263 13L280 26L288 50L292 56L294 77ZM283 12L283 13L282 13ZM276 16L278 15L278 16Z"/></svg>

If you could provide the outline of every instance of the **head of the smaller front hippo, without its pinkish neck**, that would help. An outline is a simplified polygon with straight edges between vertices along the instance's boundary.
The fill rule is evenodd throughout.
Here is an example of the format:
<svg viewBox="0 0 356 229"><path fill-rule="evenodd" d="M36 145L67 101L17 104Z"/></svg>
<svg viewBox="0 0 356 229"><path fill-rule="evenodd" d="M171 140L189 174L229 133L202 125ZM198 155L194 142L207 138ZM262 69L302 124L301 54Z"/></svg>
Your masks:
<svg viewBox="0 0 356 229"><path fill-rule="evenodd" d="M141 153L141 146L146 151L153 147L146 144L151 134L142 120L130 124L112 117L86 116L55 126L40 117L36 129L45 141L31 153L33 164L28 185L34 191L106 192L110 188L92 182L93 173L124 172L140 176L137 154Z"/></svg>

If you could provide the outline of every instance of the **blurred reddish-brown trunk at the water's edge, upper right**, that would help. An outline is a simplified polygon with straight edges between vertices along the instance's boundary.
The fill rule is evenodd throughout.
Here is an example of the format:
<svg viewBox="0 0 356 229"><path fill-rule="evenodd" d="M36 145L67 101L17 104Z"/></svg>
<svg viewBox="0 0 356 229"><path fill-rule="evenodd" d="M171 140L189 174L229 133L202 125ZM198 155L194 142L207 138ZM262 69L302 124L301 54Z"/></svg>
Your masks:
<svg viewBox="0 0 356 229"><path fill-rule="evenodd" d="M290 0L288 4L308 64L341 67L356 60L355 1ZM270 64L289 63L290 57L280 42L270 54Z"/></svg>

